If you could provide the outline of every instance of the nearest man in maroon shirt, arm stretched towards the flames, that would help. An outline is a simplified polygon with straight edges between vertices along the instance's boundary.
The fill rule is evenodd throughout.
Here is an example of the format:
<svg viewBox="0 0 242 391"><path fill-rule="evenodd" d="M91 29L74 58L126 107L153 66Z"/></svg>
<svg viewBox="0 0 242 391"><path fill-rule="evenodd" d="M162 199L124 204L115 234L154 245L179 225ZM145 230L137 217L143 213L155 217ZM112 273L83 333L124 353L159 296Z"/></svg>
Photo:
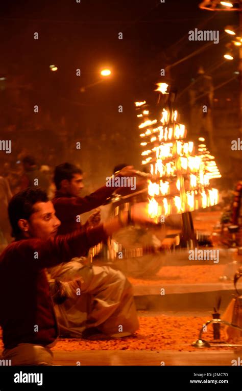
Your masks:
<svg viewBox="0 0 242 391"><path fill-rule="evenodd" d="M131 213L134 221L149 221L142 206ZM16 240L0 256L3 358L11 359L12 365L51 364L50 347L58 336L58 327L45 268L82 256L127 224L128 216L124 212L121 220L114 218L95 228L58 236L60 221L53 203L42 190L27 189L11 199L9 219ZM85 281L83 285L85 289ZM97 302L102 300L102 284L93 294ZM93 305L93 317L95 309Z"/></svg>

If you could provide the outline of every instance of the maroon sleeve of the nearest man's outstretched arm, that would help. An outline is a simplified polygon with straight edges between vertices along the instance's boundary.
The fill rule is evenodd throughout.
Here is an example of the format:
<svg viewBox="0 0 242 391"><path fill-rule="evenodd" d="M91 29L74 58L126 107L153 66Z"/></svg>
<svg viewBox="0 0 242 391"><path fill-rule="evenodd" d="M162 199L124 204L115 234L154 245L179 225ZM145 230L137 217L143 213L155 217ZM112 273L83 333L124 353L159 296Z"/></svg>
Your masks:
<svg viewBox="0 0 242 391"><path fill-rule="evenodd" d="M86 231L75 231L68 235L57 235L55 238L41 240L38 238L23 239L13 242L6 248L11 259L21 263L29 270L52 267L71 258L86 255L90 247L107 239L103 224L88 228ZM30 269L29 269L30 268Z"/></svg>

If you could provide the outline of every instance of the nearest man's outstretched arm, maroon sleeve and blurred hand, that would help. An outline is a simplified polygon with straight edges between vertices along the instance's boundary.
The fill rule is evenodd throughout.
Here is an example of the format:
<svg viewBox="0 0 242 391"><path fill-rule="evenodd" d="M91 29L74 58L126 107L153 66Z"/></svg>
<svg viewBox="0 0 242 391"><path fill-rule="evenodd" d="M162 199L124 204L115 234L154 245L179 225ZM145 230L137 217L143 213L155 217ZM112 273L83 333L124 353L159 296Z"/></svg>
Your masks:
<svg viewBox="0 0 242 391"><path fill-rule="evenodd" d="M133 205L131 217L134 222L154 225L148 216L148 204ZM47 240L33 238L13 242L6 251L15 261L16 267L26 268L27 273L29 270L37 272L39 269L85 255L90 247L106 240L122 226L128 225L128 220L128 212L122 212L122 216L114 217L94 228L78 230L68 235L57 235Z"/></svg>

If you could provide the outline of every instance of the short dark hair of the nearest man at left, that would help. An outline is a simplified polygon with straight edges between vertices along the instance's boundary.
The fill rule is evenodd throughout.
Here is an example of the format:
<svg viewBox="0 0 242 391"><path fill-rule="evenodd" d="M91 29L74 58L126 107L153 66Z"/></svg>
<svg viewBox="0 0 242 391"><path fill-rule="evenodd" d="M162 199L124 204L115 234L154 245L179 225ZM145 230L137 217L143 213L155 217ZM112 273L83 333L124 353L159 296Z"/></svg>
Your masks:
<svg viewBox="0 0 242 391"><path fill-rule="evenodd" d="M40 188L22 190L11 198L8 205L8 216L12 226L12 237L18 238L22 234L18 220L29 220L34 213L34 204L47 201L49 201L47 194Z"/></svg>

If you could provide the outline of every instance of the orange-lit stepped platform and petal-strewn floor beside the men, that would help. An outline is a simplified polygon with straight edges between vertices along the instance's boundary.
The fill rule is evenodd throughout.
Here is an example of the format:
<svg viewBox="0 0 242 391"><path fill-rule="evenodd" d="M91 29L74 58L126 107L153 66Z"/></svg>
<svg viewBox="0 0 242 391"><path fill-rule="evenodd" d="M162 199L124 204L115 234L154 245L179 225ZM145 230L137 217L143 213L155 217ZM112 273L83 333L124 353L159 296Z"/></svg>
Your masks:
<svg viewBox="0 0 242 391"><path fill-rule="evenodd" d="M212 233L220 212L201 212L194 218L195 228ZM189 260L188 249L167 250L165 261L156 275L129 278L133 285L138 310L139 330L128 338L83 340L60 338L53 348L58 365L240 365L241 346L214 343L209 325L203 338L210 348L195 348L206 321L212 319L221 297L223 314L234 294L233 275L240 266L236 251L219 249L219 262ZM152 255L151 255L152 257ZM225 279L225 277L227 279ZM237 284L242 288L242 283ZM224 341L221 329L221 342ZM1 342L2 343L2 342ZM0 354L1 348L0 344ZM237 363L237 364L236 364Z"/></svg>

